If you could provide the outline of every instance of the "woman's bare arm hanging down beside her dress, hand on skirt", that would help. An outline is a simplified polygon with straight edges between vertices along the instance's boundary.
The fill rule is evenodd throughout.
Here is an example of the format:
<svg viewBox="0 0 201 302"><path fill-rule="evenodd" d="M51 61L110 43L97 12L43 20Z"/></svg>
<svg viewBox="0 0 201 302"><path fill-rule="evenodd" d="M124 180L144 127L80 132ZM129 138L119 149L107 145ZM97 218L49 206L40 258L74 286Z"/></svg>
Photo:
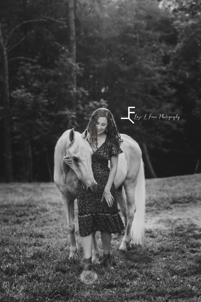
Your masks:
<svg viewBox="0 0 201 302"><path fill-rule="evenodd" d="M105 198L108 207L111 207L114 201L114 198L112 196L112 194L110 193L110 189L111 189L111 185L114 182L115 179L115 175L117 173L117 164L118 164L118 155L112 155L111 159L110 159L110 173L108 176L108 181L105 185L105 189L103 191L102 194L102 199Z"/></svg>

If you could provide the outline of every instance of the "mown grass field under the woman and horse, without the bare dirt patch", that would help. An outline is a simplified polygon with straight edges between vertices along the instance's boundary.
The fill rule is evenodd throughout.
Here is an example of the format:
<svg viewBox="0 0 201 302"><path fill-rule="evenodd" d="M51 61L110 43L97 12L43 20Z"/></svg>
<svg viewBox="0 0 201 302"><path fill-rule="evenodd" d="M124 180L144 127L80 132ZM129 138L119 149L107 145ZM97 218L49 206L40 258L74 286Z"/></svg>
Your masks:
<svg viewBox="0 0 201 302"><path fill-rule="evenodd" d="M201 174L147 180L146 190L147 212L195 207L201 204ZM0 192L0 301L201 301L196 224L146 228L143 245L124 253L118 251L123 236L113 235L115 271L96 265L98 280L86 285L78 231L77 259L68 259L66 217L55 185L0 184ZM97 240L101 249L99 233Z"/></svg>

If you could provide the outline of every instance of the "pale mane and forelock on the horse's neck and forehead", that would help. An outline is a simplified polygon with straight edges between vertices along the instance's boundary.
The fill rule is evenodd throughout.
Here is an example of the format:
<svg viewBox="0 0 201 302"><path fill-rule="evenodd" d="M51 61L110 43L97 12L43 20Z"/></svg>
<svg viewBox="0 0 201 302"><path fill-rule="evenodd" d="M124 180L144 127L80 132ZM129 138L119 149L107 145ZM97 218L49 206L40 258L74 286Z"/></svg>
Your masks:
<svg viewBox="0 0 201 302"><path fill-rule="evenodd" d="M65 131L61 137L58 139L58 142L55 146L55 167L54 170L59 171L62 169L62 157L65 155L66 150L68 149L68 155L72 156L74 153L83 153L83 150L86 149L88 143L81 137L81 134L75 131L74 142L71 143L69 140L70 130ZM89 145L90 147L90 145Z"/></svg>

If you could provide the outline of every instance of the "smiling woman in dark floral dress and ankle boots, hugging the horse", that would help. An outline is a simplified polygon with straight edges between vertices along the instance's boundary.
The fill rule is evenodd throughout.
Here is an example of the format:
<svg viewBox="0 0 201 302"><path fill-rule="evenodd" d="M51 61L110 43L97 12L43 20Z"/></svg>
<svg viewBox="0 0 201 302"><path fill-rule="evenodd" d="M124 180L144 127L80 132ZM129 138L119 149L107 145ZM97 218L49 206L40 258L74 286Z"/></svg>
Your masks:
<svg viewBox="0 0 201 302"><path fill-rule="evenodd" d="M81 181L77 188L79 232L82 237L84 251L84 269L92 267L92 236L96 231L101 232L104 265L107 269L114 269L110 258L111 233L120 233L124 224L118 214L117 197L114 179L117 172L118 155L123 151L121 139L114 117L106 108L99 108L93 112L87 126L87 138L93 149L92 171L97 182L97 191L88 194ZM108 168L110 160L111 169ZM72 166L70 159L65 163Z"/></svg>

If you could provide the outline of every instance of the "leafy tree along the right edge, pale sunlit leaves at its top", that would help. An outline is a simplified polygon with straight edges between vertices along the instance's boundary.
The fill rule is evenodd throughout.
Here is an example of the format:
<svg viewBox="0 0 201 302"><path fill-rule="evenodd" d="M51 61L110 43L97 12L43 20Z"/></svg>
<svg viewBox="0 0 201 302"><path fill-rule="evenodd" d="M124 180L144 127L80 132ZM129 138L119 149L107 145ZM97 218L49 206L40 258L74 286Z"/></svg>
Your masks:
<svg viewBox="0 0 201 302"><path fill-rule="evenodd" d="M182 160L193 173L201 154L201 134L198 131L201 128L201 1L163 1L163 5L171 8L177 31L178 43L171 54L168 74L170 86L175 89L177 106L181 107L185 120L184 140L177 140L175 147L179 150L183 145Z"/></svg>

